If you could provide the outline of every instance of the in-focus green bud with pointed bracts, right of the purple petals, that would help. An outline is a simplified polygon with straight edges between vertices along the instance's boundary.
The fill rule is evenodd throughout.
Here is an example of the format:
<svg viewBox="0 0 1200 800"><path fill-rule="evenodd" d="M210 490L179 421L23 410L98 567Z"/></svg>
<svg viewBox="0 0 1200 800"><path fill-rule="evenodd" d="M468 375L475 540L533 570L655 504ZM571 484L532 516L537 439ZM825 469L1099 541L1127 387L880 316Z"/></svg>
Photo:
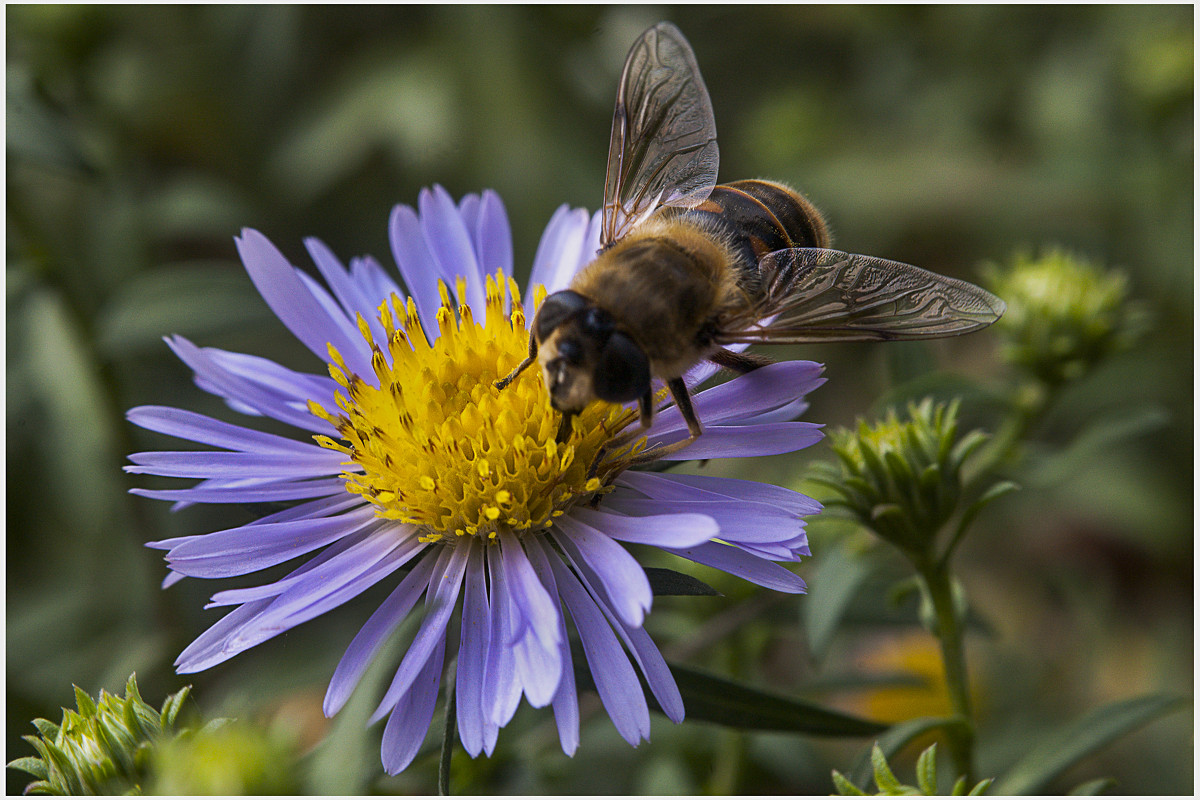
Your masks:
<svg viewBox="0 0 1200 800"><path fill-rule="evenodd" d="M958 403L910 404L901 420L888 411L875 426L836 429L830 446L840 462L817 464L812 480L832 489L827 505L846 509L863 525L911 558L931 552L937 531L958 510L962 463L986 439L959 440Z"/></svg>

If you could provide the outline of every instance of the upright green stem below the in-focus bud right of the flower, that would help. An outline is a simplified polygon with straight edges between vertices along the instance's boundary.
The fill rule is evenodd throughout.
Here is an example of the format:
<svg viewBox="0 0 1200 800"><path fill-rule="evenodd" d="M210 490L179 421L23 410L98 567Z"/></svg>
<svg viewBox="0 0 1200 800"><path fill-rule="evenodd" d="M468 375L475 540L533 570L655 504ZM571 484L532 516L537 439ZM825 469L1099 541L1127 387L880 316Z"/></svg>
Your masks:
<svg viewBox="0 0 1200 800"><path fill-rule="evenodd" d="M950 757L954 759L958 774L966 776L970 786L974 784L974 721L971 714L962 625L954 602L954 585L944 563L918 569L934 604L950 706L955 716L962 720L962 724L947 728Z"/></svg>

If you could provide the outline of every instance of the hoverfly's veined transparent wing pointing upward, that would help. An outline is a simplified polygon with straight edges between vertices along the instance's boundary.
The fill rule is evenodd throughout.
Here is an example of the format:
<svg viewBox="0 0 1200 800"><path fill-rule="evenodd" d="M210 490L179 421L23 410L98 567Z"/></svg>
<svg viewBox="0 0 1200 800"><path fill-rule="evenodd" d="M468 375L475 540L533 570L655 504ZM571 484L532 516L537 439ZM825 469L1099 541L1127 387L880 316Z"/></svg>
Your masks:
<svg viewBox="0 0 1200 800"><path fill-rule="evenodd" d="M671 23L642 34L617 89L601 246L660 205L692 207L716 185L716 124L691 46Z"/></svg>

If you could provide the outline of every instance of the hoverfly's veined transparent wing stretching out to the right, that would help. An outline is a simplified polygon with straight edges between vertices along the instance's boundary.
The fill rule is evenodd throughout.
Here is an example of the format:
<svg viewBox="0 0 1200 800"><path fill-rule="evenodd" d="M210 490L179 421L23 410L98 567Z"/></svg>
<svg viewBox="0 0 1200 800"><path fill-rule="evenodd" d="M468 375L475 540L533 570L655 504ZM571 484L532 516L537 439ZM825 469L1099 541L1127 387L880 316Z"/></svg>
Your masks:
<svg viewBox="0 0 1200 800"><path fill-rule="evenodd" d="M985 327L1004 302L911 264L797 247L758 261L758 301L722 320L719 343L868 342L956 336Z"/></svg>

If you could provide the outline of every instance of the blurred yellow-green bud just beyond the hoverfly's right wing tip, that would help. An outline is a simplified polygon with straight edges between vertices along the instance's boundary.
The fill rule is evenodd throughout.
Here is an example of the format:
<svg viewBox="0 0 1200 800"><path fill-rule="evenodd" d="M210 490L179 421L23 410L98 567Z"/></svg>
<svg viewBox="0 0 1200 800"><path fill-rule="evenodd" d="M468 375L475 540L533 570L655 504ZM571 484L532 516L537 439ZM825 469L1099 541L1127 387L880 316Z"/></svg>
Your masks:
<svg viewBox="0 0 1200 800"><path fill-rule="evenodd" d="M1145 326L1140 308L1127 302L1123 272L1063 251L1018 255L1006 269L991 267L990 288L1008 303L996 323L1001 356L1049 387L1078 380Z"/></svg>

